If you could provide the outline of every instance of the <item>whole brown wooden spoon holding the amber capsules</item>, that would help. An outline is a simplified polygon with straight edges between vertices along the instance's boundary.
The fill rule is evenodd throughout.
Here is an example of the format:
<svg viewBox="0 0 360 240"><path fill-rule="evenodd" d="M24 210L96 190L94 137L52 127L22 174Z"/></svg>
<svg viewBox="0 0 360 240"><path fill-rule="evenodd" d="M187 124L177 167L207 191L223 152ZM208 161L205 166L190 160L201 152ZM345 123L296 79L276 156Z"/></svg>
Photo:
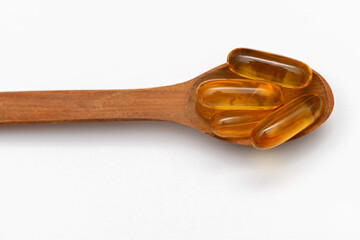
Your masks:
<svg viewBox="0 0 360 240"><path fill-rule="evenodd" d="M102 122L127 120L172 121L193 127L223 141L250 145L250 140L215 136L208 120L196 111L196 88L209 79L240 78L227 64L220 65L190 81L157 88L135 90L30 91L0 93L0 125ZM285 103L304 93L317 93L324 100L324 111L309 128L292 139L319 127L330 116L334 97L325 79L313 71L304 89L283 88ZM291 139L291 140L292 140Z"/></svg>

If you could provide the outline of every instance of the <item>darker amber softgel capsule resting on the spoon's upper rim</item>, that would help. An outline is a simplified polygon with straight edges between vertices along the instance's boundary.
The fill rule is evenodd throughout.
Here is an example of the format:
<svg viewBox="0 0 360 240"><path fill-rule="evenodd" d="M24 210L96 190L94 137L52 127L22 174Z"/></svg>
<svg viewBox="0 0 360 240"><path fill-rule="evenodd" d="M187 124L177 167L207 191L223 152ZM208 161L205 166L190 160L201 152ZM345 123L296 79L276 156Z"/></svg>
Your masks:
<svg viewBox="0 0 360 240"><path fill-rule="evenodd" d="M247 48L231 51L227 62L230 70L242 77L271 81L287 88L306 87L312 78L312 70L305 63Z"/></svg>

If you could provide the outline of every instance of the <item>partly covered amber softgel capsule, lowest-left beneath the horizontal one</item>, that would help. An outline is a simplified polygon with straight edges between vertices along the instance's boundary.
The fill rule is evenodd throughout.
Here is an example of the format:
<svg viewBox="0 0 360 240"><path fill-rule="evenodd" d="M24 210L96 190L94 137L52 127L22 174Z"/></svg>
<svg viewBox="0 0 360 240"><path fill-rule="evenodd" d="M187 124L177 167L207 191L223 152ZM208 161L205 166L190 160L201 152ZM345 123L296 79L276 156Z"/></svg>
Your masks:
<svg viewBox="0 0 360 240"><path fill-rule="evenodd" d="M270 111L225 111L210 120L211 131L221 138L250 138L254 127Z"/></svg>

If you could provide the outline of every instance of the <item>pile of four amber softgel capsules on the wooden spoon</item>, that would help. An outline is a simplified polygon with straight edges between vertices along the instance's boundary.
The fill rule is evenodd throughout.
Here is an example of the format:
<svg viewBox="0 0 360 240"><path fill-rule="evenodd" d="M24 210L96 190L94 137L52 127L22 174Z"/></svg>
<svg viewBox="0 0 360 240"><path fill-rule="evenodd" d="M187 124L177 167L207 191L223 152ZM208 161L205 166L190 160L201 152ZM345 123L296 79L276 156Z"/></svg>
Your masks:
<svg viewBox="0 0 360 240"><path fill-rule="evenodd" d="M196 92L197 111L209 120L212 132L225 139L250 139L269 149L309 127L323 111L321 97L304 94L284 104L283 88L308 86L312 70L283 56L238 48L228 67L240 79L212 79Z"/></svg>

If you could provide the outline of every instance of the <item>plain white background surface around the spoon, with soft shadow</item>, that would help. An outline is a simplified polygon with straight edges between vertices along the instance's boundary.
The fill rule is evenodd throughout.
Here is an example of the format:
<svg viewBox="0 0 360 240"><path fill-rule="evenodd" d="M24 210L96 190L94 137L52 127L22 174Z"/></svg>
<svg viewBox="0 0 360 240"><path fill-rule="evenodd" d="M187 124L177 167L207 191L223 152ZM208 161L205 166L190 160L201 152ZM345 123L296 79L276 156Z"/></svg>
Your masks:
<svg viewBox="0 0 360 240"><path fill-rule="evenodd" d="M167 122L1 127L0 239L360 239L359 23L356 0L0 0L0 91L170 85L248 47L335 96L268 151Z"/></svg>

